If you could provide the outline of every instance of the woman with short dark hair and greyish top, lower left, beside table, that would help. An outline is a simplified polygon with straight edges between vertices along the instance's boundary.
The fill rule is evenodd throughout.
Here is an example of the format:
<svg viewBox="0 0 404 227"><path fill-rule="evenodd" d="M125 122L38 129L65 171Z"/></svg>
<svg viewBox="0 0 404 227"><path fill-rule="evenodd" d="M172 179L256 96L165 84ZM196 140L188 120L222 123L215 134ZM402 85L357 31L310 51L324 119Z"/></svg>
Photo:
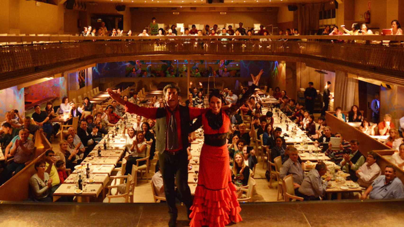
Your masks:
<svg viewBox="0 0 404 227"><path fill-rule="evenodd" d="M52 202L50 189L52 188L52 179L45 172L45 161L39 160L34 165L36 173L29 179L29 188L31 199L38 202Z"/></svg>

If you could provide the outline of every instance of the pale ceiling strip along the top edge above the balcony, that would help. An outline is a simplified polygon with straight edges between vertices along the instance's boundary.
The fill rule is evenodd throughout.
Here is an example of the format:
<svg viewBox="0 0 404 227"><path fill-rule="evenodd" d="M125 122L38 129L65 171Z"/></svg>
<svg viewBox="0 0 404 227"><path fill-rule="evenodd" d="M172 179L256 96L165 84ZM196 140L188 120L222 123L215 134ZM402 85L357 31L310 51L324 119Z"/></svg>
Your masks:
<svg viewBox="0 0 404 227"><path fill-rule="evenodd" d="M317 3L328 2L330 0L224 0L224 3L208 4L206 0L81 0L81 2L93 3L113 3L125 4L127 7L208 7L208 6L282 6L294 3ZM213 0L214 2L217 0Z"/></svg>

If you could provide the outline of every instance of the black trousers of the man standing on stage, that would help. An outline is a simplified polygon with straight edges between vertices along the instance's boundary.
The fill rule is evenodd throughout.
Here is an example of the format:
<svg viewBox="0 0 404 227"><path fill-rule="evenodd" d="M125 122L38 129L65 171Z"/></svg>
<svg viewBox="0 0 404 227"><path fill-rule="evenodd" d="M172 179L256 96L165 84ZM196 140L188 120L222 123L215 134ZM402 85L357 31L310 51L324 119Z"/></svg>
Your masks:
<svg viewBox="0 0 404 227"><path fill-rule="evenodd" d="M163 175L164 193L168 205L168 213L170 216L177 217L177 207L175 206L175 185L181 195L182 202L191 208L192 197L191 190L188 186L188 156L186 148L170 154L164 151L158 157L160 171Z"/></svg>

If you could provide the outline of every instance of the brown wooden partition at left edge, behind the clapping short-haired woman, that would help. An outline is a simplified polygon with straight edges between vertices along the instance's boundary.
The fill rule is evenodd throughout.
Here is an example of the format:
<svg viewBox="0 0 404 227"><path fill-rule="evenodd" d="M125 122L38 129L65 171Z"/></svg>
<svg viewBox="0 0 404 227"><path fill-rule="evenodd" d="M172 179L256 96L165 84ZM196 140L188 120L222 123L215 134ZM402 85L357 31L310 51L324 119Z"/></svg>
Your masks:
<svg viewBox="0 0 404 227"><path fill-rule="evenodd" d="M24 169L0 186L0 200L23 201L29 198L29 178L36 173L35 162L44 158L45 151L52 148L42 134L35 133L35 157Z"/></svg>

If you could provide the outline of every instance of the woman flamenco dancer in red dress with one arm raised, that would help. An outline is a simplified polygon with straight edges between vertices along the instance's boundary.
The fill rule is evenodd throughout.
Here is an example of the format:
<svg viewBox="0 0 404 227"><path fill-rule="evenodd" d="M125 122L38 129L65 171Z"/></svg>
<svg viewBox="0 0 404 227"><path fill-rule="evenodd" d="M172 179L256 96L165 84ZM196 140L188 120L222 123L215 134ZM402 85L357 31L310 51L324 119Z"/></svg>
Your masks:
<svg viewBox="0 0 404 227"><path fill-rule="evenodd" d="M226 136L230 126L229 116L253 94L262 73L263 70L256 77L251 74L253 85L236 104L223 105L228 107L226 110L222 109L224 98L219 90L211 92L210 110L203 113L195 123L203 125L205 141L200 154L198 185L189 216L190 227L223 227L231 222L242 221L236 187L231 182Z"/></svg>

